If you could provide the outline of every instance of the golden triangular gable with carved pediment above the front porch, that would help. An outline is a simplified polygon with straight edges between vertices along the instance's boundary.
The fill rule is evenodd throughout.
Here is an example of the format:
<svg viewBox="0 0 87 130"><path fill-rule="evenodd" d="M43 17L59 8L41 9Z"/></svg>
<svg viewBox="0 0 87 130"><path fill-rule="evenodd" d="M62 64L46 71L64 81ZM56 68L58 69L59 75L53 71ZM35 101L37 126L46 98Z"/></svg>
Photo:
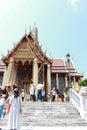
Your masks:
<svg viewBox="0 0 87 130"><path fill-rule="evenodd" d="M42 51L38 41L33 38L31 33L22 37L14 48L8 52L7 56L2 58L3 62L8 63L10 57L14 59L33 59L37 57L38 62L51 63L51 60Z"/></svg>

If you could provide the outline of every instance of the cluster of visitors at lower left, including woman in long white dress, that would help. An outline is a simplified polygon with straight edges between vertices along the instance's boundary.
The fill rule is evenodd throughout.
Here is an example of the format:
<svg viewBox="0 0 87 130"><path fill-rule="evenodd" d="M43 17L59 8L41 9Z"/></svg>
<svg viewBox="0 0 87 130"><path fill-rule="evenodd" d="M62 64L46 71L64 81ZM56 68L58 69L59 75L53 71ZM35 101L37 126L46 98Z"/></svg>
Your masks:
<svg viewBox="0 0 87 130"><path fill-rule="evenodd" d="M22 111L20 93L15 86L11 91L10 89L8 91L8 87L5 89L0 88L0 119L5 109L5 112L9 114L8 130L18 130L20 129L20 113ZM10 95L9 92L11 92Z"/></svg>

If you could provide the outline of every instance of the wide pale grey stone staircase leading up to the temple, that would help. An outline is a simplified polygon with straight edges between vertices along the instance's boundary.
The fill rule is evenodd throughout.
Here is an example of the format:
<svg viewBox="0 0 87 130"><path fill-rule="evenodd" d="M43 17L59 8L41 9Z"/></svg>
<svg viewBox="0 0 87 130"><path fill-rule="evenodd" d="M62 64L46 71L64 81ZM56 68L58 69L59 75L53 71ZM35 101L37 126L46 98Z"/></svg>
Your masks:
<svg viewBox="0 0 87 130"><path fill-rule="evenodd" d="M23 102L21 126L87 126L71 102ZM7 125L8 114L0 120Z"/></svg>

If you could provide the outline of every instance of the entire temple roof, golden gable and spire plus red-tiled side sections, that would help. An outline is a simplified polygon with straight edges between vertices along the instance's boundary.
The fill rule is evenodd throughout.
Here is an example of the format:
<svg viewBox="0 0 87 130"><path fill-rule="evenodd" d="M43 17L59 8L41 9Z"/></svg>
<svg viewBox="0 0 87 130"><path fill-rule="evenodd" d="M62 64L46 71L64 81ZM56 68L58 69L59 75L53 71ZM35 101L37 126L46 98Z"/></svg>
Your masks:
<svg viewBox="0 0 87 130"><path fill-rule="evenodd" d="M37 57L41 63L50 63L51 73L69 73L68 63L64 59L50 59L46 56L46 53L42 51L38 42L38 30L36 27L34 27L28 34L25 33L20 41L14 44L14 47L10 51L8 50L7 55L2 57L3 62L0 62L0 72L4 72L5 65L9 63L10 57L17 59L19 58L19 54L20 59L29 58L29 56L31 56L32 59ZM70 75L83 77L82 74L77 72L72 62L70 62Z"/></svg>

